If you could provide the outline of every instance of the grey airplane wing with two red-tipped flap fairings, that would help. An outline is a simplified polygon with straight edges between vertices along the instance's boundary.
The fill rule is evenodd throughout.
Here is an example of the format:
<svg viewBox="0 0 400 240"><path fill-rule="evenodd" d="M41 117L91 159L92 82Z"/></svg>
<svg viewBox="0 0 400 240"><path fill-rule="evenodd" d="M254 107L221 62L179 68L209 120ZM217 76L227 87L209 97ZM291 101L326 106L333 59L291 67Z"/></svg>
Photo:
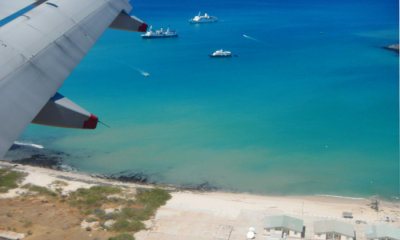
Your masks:
<svg viewBox="0 0 400 240"><path fill-rule="evenodd" d="M48 0L0 27L0 157L32 121L96 127L97 117L57 91L108 27L146 31L131 9L129 0Z"/></svg>

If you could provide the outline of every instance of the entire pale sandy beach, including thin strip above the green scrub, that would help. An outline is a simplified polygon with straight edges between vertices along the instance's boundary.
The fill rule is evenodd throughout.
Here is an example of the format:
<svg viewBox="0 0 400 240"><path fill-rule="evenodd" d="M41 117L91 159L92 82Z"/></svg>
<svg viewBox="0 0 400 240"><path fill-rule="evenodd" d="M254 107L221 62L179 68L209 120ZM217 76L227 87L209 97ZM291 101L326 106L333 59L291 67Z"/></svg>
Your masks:
<svg viewBox="0 0 400 240"><path fill-rule="evenodd" d="M52 188L54 181L65 181L68 183L62 190L65 194L93 185L112 185L128 189L154 187L7 162L1 162L0 167L12 167L14 170L28 173L22 184L30 183ZM400 202L380 200L379 211L375 211L370 207L371 199L362 198L262 196L245 193L180 191L174 188L168 190L172 199L146 222L146 230L135 234L136 239L245 239L249 227L256 229L256 239L264 239L262 231L264 217L282 214L304 220L306 239L312 238L313 222L321 219L337 219L352 223L357 239L365 239L364 222L367 224L385 222L400 227ZM13 189L0 194L0 198L12 199L23 191L25 190L21 188ZM344 219L342 217L344 211L352 212L354 218ZM360 220L364 222L357 223Z"/></svg>

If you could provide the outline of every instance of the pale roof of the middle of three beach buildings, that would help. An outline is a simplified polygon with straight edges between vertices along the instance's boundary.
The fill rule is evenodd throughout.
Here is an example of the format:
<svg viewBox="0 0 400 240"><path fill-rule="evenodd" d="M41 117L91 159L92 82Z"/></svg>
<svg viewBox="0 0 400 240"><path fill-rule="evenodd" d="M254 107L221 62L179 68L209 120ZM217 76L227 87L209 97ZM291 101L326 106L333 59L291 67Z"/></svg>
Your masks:
<svg viewBox="0 0 400 240"><path fill-rule="evenodd" d="M353 225L336 220L322 220L314 222L314 233L338 233L348 237L354 237Z"/></svg>

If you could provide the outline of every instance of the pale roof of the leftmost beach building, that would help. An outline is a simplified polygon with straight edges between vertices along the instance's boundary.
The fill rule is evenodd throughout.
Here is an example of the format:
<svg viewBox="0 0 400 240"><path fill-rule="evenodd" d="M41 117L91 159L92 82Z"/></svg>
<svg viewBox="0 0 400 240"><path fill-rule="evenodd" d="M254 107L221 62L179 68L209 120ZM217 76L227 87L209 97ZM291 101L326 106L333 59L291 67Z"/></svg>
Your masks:
<svg viewBox="0 0 400 240"><path fill-rule="evenodd" d="M302 232L303 220L285 215L267 216L264 219L264 228L287 228L296 232Z"/></svg>

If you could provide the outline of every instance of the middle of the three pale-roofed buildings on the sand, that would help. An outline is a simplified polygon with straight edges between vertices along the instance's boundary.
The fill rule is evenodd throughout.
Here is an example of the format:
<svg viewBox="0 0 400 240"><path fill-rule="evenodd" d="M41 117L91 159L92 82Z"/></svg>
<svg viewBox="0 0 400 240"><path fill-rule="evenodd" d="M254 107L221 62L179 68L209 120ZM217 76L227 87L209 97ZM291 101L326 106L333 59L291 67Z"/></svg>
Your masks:
<svg viewBox="0 0 400 240"><path fill-rule="evenodd" d="M353 225L336 220L314 222L314 240L354 240Z"/></svg>

